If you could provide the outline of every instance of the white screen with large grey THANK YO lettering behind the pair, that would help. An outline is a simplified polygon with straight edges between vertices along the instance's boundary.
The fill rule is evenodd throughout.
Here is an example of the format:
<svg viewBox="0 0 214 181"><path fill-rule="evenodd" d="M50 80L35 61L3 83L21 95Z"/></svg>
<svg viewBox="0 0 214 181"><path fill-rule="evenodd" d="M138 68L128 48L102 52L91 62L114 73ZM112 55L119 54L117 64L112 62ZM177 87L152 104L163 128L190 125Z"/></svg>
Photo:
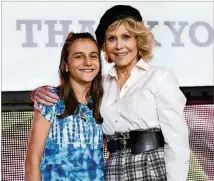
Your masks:
<svg viewBox="0 0 214 181"><path fill-rule="evenodd" d="M94 31L121 2L2 2L2 90L58 85L63 41L70 31ZM213 2L124 2L142 13L155 35L153 64L180 86L213 86ZM103 60L103 73L112 65Z"/></svg>

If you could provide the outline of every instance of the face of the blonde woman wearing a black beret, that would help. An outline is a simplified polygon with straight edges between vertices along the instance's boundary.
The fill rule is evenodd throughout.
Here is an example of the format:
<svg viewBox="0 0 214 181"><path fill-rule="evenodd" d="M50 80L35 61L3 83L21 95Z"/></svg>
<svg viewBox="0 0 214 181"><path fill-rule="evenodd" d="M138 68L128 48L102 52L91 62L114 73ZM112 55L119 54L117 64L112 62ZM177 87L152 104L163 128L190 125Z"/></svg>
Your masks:
<svg viewBox="0 0 214 181"><path fill-rule="evenodd" d="M107 55L118 67L137 63L137 42L124 24L116 30L106 32L105 45Z"/></svg>

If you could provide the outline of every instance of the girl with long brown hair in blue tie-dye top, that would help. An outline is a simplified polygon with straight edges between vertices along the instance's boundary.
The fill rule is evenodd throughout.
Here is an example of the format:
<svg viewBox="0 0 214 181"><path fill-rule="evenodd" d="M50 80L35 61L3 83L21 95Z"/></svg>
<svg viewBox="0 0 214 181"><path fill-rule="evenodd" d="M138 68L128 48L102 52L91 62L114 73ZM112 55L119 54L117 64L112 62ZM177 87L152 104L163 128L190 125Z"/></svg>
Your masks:
<svg viewBox="0 0 214 181"><path fill-rule="evenodd" d="M70 33L61 53L60 100L35 111L25 160L27 181L104 177L100 51L89 33Z"/></svg>

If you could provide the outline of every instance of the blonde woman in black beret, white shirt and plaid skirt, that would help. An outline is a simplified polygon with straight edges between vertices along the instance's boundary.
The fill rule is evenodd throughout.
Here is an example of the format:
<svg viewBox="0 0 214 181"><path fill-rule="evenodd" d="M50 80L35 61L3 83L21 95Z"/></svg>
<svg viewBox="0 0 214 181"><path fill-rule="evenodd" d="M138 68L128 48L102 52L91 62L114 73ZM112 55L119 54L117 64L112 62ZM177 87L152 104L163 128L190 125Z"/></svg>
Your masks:
<svg viewBox="0 0 214 181"><path fill-rule="evenodd" d="M115 66L104 76L103 132L110 157L106 181L185 181L189 166L186 98L168 70L150 65L154 37L139 11L117 5L96 30L99 48ZM38 102L49 95L34 94ZM53 97L54 98L54 97Z"/></svg>

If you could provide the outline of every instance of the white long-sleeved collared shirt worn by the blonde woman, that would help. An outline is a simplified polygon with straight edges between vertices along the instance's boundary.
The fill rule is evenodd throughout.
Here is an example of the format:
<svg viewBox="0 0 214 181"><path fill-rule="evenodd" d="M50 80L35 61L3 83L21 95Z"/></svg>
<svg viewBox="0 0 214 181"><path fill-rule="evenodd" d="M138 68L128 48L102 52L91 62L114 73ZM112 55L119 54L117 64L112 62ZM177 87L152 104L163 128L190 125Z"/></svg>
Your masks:
<svg viewBox="0 0 214 181"><path fill-rule="evenodd" d="M115 67L104 77L103 86L104 134L161 128L167 181L186 181L190 152L183 116L186 98L172 73L141 59L121 89Z"/></svg>

